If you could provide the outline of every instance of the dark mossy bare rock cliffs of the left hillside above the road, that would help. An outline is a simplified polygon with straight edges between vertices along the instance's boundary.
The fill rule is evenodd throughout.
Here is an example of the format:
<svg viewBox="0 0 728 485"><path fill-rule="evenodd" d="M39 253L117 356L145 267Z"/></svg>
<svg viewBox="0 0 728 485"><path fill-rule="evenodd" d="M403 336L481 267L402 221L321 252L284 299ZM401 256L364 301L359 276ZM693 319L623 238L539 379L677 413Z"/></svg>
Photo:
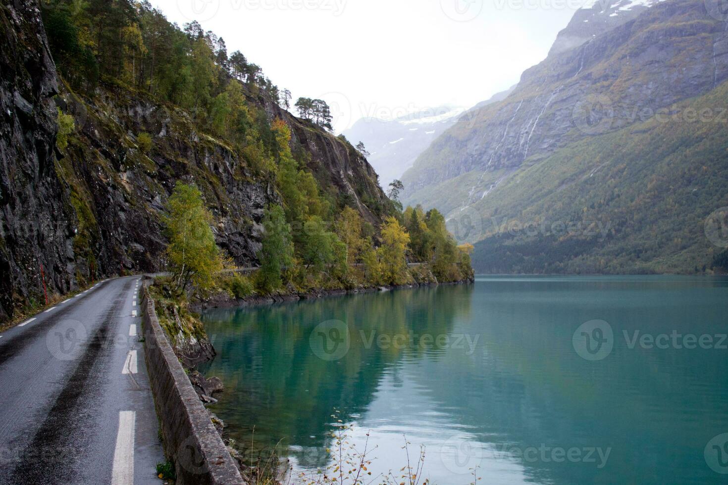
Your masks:
<svg viewBox="0 0 728 485"><path fill-rule="evenodd" d="M0 5L0 321L92 278L165 266L161 217L178 180L196 183L215 236L238 265L256 264L269 180L205 133L189 114L141 92L102 85L79 95L58 79L34 1ZM286 121L325 191L348 194L377 225L386 197L376 173L347 143L296 119L262 95L248 102ZM57 106L74 117L55 148ZM145 151L138 135L154 140Z"/></svg>

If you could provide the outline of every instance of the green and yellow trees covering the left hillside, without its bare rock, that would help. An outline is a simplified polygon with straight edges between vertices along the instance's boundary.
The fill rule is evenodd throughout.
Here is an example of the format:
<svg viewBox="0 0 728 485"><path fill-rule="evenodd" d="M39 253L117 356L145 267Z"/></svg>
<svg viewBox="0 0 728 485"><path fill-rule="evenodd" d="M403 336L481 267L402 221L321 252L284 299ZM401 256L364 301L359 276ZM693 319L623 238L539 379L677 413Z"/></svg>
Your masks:
<svg viewBox="0 0 728 485"><path fill-rule="evenodd" d="M288 89L279 89L242 52L230 53L224 39L199 23L170 23L149 1L50 0L41 13L68 89L125 89L170 106L170 113L185 113L199 137L216 140L245 162L250 171L235 177L264 180L273 188L274 203L265 209L257 254L260 270L221 278L216 273L234 265L215 245L215 233L206 229L213 221L206 207L213 207L223 190L205 177L197 180L195 174L175 186L162 223L176 296L224 289L244 297L459 281L472 275L470 248L457 247L443 215L421 207L401 210L401 183L392 187L387 199L374 193L378 188L363 188L368 181L357 181L362 188L355 187L357 196L352 196L328 182L329 174L317 172L311 154L292 142L289 124L269 119L265 103L260 103L269 100L290 109L294 106ZM330 129L331 111L322 100L304 97L295 108L306 129ZM61 151L79 143L73 121L58 112ZM363 156L339 138L349 153ZM139 129L134 140L134 151L145 155L142 159L165 155L153 133ZM61 173L71 188L82 185L73 180L73 170ZM77 192L72 198L79 214L74 252L89 261L92 278L98 266L98 220L87 210L84 191ZM424 268L408 268L408 263Z"/></svg>

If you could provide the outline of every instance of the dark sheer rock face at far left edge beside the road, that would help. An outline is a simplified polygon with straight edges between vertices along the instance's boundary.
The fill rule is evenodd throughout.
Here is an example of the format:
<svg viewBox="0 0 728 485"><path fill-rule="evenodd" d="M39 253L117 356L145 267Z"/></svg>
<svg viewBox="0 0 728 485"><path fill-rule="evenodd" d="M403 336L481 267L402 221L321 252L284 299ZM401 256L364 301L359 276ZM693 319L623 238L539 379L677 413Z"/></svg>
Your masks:
<svg viewBox="0 0 728 485"><path fill-rule="evenodd" d="M39 9L27 1L1 4L0 29L2 320L22 304L18 288L39 288L41 265L51 286L68 290L63 274L73 229L54 164L58 83Z"/></svg>

